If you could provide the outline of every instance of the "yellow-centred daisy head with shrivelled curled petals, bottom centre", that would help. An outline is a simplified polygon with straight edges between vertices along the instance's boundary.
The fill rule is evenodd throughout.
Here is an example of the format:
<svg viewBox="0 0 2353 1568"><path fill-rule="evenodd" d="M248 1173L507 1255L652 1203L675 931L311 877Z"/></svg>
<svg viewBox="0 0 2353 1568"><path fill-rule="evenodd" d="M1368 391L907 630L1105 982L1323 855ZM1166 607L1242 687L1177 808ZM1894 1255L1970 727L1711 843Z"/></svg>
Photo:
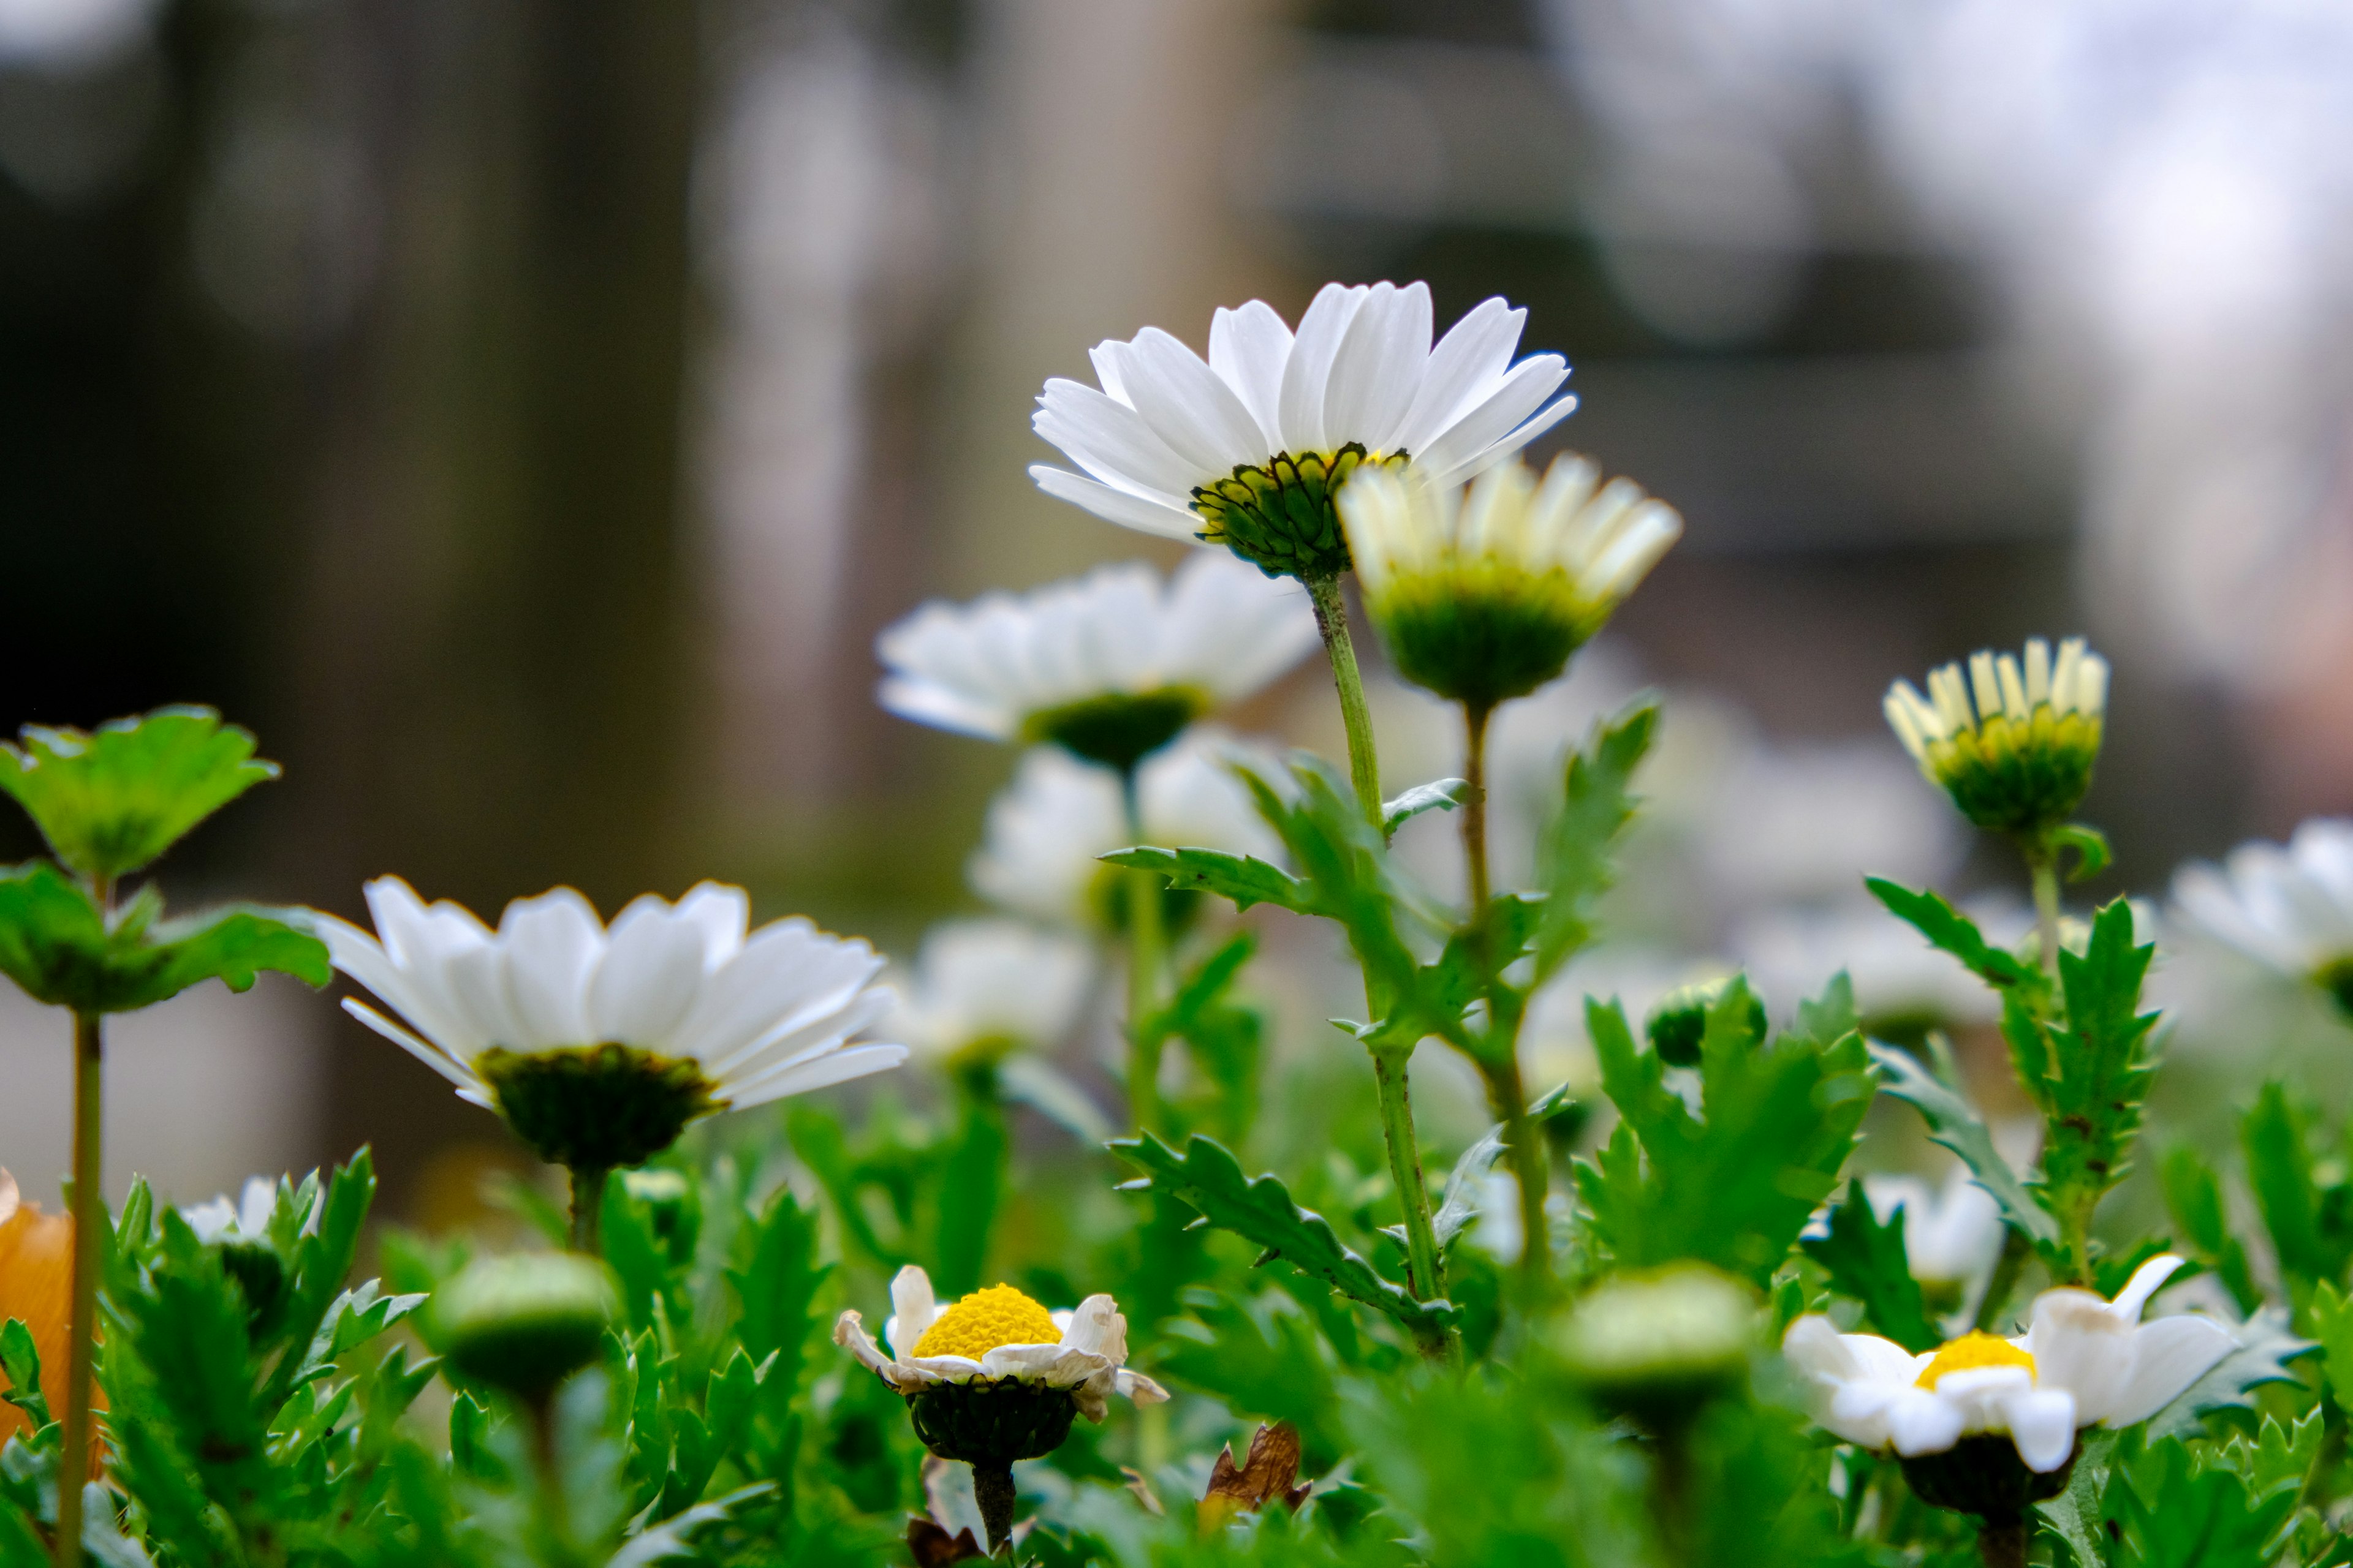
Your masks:
<svg viewBox="0 0 2353 1568"><path fill-rule="evenodd" d="M885 1354L856 1312L833 1324L833 1342L901 1394L941 1382L1014 1380L1071 1389L1078 1413L1104 1420L1111 1394L1139 1406L1160 1403L1167 1389L1127 1371L1127 1319L1108 1295L1075 1309L1047 1312L1012 1286L991 1286L939 1305L932 1276L906 1265L889 1281L892 1316L882 1324Z"/></svg>

